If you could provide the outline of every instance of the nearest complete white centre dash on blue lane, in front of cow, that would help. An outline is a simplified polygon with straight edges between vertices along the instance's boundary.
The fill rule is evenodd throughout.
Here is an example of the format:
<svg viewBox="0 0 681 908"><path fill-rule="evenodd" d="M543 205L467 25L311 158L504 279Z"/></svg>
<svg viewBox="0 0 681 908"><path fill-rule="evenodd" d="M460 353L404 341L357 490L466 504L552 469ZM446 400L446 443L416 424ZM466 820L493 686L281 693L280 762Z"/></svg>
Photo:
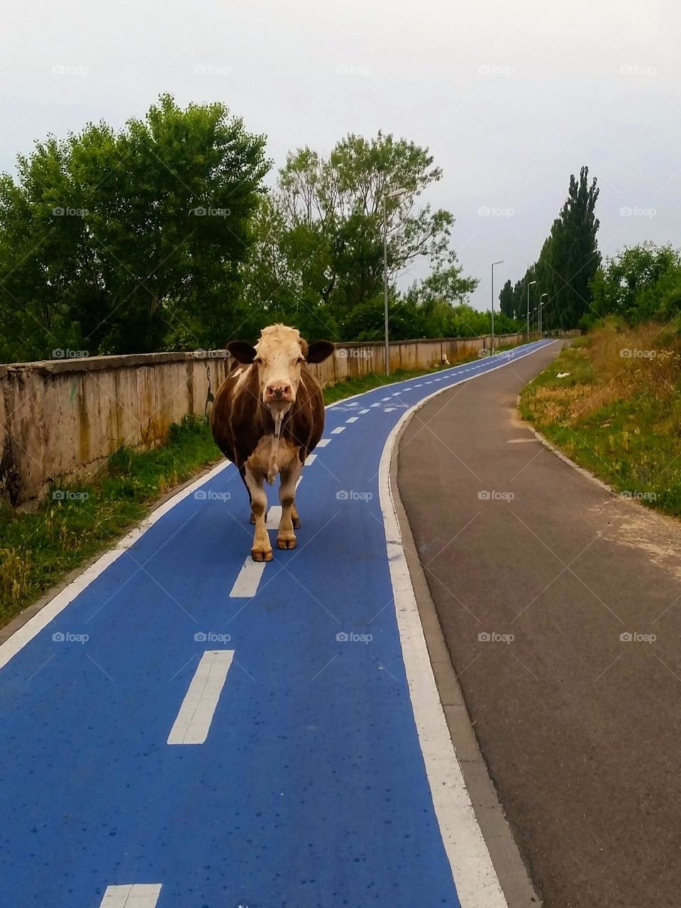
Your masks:
<svg viewBox="0 0 681 908"><path fill-rule="evenodd" d="M203 653L168 735L168 744L203 744L233 657L233 649L207 649Z"/></svg>

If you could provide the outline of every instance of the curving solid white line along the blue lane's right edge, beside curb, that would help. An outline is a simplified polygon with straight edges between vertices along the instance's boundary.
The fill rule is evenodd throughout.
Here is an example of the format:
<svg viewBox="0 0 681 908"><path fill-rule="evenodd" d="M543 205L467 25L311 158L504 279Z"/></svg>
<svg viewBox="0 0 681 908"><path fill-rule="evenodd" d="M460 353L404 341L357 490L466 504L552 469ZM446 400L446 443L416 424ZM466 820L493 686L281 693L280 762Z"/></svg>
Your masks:
<svg viewBox="0 0 681 908"><path fill-rule="evenodd" d="M528 350L514 360L521 360L549 344ZM503 369L508 361L479 372L487 375ZM478 376L475 376L476 378ZM469 380L469 379L466 379ZM498 882L497 872L480 832L478 819L461 773L459 761L449 736L449 727L442 710L435 683L426 638L416 604L407 558L402 548L400 525L390 488L390 459L400 429L425 406L429 400L456 387L453 382L427 395L398 419L386 439L380 456L379 499L386 535L386 550L395 614L400 633L400 646L410 689L414 721L419 745L426 765L430 794L438 818L442 843L449 858L454 884L461 908L508 908L506 897Z"/></svg>

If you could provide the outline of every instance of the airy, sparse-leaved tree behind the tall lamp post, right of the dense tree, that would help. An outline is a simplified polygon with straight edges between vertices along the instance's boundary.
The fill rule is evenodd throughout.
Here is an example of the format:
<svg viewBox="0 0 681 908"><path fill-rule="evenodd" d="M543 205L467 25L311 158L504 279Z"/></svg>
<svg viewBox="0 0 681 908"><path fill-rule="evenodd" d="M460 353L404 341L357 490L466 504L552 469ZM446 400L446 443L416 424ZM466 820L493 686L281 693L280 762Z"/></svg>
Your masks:
<svg viewBox="0 0 681 908"><path fill-rule="evenodd" d="M400 305L409 303L415 312L419 301L463 299L476 281L461 276L449 248L453 216L429 204L416 208L420 194L440 177L428 149L381 133L372 139L350 134L328 157L310 148L291 153L253 225L243 269L248 307L288 315L312 339L352 340L370 330L380 337L382 206L396 187L408 192L386 203L391 300L398 300L395 277L419 258L433 272ZM273 273L276 281L268 276Z"/></svg>

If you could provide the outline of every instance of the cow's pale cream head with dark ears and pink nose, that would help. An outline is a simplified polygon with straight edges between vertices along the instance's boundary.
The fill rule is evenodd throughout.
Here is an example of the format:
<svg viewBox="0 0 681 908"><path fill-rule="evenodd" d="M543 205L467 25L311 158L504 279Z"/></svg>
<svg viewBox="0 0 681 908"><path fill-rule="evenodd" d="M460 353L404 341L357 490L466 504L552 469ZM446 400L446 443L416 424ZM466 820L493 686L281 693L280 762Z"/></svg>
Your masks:
<svg viewBox="0 0 681 908"><path fill-rule="evenodd" d="M252 363L258 370L261 400L276 410L289 410L296 399L303 362L322 362L333 352L329 341L308 342L296 328L270 325L263 328L255 347L232 341L227 350L235 360Z"/></svg>

